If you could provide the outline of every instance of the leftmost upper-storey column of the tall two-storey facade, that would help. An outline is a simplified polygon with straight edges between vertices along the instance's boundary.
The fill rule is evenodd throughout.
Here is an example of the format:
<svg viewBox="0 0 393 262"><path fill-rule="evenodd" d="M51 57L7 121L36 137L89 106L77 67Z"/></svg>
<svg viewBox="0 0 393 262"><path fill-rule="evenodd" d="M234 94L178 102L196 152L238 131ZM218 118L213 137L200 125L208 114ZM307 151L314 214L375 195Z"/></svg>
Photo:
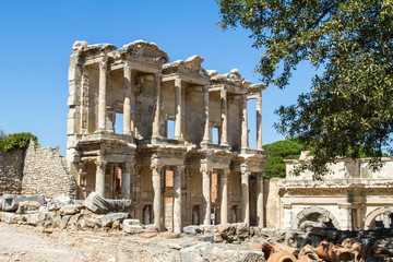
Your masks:
<svg viewBox="0 0 393 262"><path fill-rule="evenodd" d="M99 62L98 86L98 130L106 130L106 87L107 87L108 58L105 56Z"/></svg>

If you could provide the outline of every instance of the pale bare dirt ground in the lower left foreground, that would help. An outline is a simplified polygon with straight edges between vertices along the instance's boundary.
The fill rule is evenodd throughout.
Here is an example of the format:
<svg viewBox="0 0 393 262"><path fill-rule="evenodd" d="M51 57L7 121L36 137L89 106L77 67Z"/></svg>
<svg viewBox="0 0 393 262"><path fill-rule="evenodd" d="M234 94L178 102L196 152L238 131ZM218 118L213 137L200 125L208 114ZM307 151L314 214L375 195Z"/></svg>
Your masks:
<svg viewBox="0 0 393 262"><path fill-rule="evenodd" d="M195 237L166 239L159 236L143 238L123 233L71 231L0 223L0 262L179 261L180 249L201 245Z"/></svg>

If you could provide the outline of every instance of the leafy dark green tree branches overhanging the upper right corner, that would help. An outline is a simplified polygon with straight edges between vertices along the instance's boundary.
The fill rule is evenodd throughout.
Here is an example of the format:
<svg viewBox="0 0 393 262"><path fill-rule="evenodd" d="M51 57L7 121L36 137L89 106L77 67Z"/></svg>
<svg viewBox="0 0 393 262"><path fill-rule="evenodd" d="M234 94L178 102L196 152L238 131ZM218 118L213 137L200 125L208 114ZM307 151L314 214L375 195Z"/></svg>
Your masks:
<svg viewBox="0 0 393 262"><path fill-rule="evenodd" d="M257 71L283 88L301 61L322 70L297 104L276 110L276 129L313 142L311 169L361 148L380 165L392 155L392 0L219 0L222 28L251 31L264 47Z"/></svg>

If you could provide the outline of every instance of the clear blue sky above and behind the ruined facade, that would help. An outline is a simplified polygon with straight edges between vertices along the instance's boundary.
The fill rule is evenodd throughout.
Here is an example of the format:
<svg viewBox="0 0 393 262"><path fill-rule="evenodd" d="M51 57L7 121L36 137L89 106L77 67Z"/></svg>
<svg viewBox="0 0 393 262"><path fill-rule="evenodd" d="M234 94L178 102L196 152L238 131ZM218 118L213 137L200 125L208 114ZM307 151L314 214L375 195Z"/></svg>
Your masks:
<svg viewBox="0 0 393 262"><path fill-rule="evenodd" d="M251 47L250 32L222 32L218 21L214 0L0 1L0 129L32 132L41 146L59 146L64 154L68 66L75 40L118 48L136 39L154 41L171 61L200 55L207 70L237 68L259 83L253 69L262 51ZM269 86L262 93L263 144L284 139L272 127L273 111L307 92L312 74L303 66L287 90Z"/></svg>

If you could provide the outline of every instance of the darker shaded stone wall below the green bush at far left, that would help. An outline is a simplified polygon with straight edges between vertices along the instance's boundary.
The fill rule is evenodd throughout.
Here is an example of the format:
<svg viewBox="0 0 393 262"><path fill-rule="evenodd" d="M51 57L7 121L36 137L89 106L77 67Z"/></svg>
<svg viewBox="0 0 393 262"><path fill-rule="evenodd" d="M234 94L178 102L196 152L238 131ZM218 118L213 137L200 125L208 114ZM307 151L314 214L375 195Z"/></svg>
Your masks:
<svg viewBox="0 0 393 262"><path fill-rule="evenodd" d="M24 150L0 151L0 195L21 193L24 155Z"/></svg>

